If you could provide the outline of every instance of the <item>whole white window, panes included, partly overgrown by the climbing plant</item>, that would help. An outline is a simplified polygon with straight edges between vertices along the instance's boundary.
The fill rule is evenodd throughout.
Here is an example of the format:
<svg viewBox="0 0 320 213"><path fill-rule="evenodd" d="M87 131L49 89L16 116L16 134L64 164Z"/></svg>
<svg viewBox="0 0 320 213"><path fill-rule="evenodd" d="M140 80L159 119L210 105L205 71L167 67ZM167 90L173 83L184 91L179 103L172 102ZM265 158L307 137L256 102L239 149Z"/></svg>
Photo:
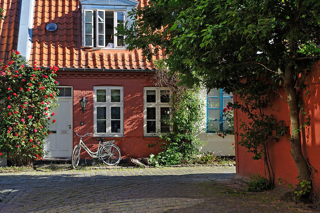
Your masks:
<svg viewBox="0 0 320 213"><path fill-rule="evenodd" d="M144 96L144 135L159 135L170 131L170 89L145 87Z"/></svg>

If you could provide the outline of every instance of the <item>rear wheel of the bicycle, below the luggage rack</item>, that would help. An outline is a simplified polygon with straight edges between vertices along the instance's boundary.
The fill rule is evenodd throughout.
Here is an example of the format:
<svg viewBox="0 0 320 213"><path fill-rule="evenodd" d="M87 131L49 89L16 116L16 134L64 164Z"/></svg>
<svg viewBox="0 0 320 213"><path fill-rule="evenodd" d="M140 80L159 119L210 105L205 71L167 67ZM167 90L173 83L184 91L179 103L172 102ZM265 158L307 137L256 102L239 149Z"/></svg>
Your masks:
<svg viewBox="0 0 320 213"><path fill-rule="evenodd" d="M108 166L114 166L120 162L120 149L114 144L106 144L100 148L100 159Z"/></svg>

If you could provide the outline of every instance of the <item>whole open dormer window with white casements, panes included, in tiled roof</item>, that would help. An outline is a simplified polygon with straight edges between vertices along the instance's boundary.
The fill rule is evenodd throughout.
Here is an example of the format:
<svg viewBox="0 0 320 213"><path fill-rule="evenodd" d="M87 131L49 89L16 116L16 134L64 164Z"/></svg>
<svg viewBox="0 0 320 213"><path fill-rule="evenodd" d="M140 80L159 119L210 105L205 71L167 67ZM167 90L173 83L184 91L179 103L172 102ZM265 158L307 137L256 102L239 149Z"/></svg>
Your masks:
<svg viewBox="0 0 320 213"><path fill-rule="evenodd" d="M124 36L115 36L116 26L124 24L126 10L83 10L84 47L125 48Z"/></svg>

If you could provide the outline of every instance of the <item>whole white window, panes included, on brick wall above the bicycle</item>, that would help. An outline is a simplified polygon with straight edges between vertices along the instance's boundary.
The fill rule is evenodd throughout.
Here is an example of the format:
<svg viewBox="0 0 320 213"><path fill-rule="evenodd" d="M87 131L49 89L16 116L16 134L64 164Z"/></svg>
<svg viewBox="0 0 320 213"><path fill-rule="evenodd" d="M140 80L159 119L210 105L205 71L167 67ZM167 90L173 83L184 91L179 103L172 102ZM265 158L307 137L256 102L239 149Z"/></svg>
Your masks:
<svg viewBox="0 0 320 213"><path fill-rule="evenodd" d="M123 136L123 87L94 87L94 136Z"/></svg>

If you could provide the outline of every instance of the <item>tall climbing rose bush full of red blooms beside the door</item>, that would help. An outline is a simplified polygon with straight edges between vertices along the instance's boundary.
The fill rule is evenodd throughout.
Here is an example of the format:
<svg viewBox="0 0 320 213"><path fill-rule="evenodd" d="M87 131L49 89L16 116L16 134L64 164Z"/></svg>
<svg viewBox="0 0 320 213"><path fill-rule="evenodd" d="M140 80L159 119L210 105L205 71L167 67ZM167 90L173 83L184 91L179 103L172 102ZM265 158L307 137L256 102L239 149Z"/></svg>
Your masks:
<svg viewBox="0 0 320 213"><path fill-rule="evenodd" d="M55 122L50 117L58 67L41 70L36 62L24 65L20 53L12 50L12 61L0 60L0 70L0 158L8 155L14 165L28 165L44 155L42 145Z"/></svg>

